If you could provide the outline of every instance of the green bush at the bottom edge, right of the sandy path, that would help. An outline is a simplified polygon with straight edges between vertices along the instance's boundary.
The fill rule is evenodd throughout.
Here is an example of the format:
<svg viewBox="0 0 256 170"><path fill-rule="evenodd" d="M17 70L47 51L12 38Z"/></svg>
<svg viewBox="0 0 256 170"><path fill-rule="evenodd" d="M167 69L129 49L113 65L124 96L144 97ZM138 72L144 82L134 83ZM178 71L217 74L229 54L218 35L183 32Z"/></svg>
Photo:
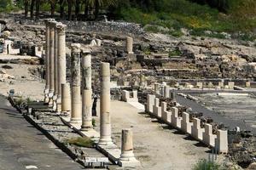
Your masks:
<svg viewBox="0 0 256 170"><path fill-rule="evenodd" d="M216 162L207 161L206 159L198 161L193 170L220 170L221 167Z"/></svg>

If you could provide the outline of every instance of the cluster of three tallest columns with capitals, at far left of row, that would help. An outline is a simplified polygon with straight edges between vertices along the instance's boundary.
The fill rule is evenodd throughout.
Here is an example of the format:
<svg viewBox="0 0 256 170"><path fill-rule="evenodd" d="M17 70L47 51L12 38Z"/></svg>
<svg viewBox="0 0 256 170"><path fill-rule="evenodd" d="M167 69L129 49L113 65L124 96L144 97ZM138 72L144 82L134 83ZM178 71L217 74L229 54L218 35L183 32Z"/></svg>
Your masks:
<svg viewBox="0 0 256 170"><path fill-rule="evenodd" d="M45 90L44 103L61 111L61 84L66 83L66 25L53 19L44 20Z"/></svg>

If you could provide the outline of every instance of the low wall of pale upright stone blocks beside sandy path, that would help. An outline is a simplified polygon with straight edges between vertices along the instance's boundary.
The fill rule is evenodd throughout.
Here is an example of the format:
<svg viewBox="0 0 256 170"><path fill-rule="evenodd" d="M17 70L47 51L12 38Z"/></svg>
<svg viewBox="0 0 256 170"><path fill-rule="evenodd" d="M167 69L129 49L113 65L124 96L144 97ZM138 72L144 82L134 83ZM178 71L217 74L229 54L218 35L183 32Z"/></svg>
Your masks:
<svg viewBox="0 0 256 170"><path fill-rule="evenodd" d="M166 102L162 102L160 105L160 99L155 98L155 95L148 94L145 108L150 115L166 122L166 124L189 134L204 144L215 147L218 153L228 152L228 133L226 130L218 129L217 134L213 134L211 124L201 127L201 120L198 118L193 118L193 122L189 122L189 114L183 112L182 116L178 116L177 107L172 107L171 111L167 111Z"/></svg>

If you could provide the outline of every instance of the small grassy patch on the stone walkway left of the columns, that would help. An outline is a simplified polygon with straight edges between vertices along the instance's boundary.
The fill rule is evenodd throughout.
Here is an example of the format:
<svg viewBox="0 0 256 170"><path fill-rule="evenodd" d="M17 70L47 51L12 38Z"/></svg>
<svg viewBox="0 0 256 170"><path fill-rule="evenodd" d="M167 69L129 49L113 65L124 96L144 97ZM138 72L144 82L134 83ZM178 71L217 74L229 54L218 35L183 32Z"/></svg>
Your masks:
<svg viewBox="0 0 256 170"><path fill-rule="evenodd" d="M80 147L86 147L86 148L92 148L94 145L94 142L87 137L78 137L78 138L72 138L67 139L65 141L66 144L73 144Z"/></svg>

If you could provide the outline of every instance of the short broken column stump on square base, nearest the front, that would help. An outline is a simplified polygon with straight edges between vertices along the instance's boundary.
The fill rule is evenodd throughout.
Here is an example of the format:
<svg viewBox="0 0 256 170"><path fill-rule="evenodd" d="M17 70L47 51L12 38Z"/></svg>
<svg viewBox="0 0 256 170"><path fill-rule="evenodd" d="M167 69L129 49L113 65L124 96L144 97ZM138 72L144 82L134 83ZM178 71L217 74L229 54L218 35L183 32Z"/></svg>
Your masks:
<svg viewBox="0 0 256 170"><path fill-rule="evenodd" d="M121 167L140 166L140 162L137 161L137 159L133 154L133 142L132 142L131 129L122 130L121 156L119 158L119 165Z"/></svg>

